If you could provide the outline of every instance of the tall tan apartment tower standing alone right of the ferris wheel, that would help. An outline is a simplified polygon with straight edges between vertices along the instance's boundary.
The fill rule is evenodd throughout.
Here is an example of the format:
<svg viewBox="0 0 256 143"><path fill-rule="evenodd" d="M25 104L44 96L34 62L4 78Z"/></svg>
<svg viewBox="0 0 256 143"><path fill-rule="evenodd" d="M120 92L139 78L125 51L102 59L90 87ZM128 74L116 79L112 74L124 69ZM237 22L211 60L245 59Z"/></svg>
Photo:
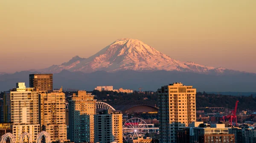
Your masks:
<svg viewBox="0 0 256 143"><path fill-rule="evenodd" d="M196 121L196 89L173 83L157 90L160 143L175 143L176 131Z"/></svg>

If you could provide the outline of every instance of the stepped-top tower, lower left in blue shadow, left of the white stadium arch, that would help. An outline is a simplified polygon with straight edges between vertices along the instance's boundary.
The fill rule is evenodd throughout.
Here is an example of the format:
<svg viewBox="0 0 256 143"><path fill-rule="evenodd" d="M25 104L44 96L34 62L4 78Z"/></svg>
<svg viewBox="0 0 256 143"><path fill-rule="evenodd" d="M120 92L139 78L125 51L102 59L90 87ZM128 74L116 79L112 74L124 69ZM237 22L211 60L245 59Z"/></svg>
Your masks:
<svg viewBox="0 0 256 143"><path fill-rule="evenodd" d="M69 139L71 142L94 142L96 100L86 91L78 91L69 99Z"/></svg>

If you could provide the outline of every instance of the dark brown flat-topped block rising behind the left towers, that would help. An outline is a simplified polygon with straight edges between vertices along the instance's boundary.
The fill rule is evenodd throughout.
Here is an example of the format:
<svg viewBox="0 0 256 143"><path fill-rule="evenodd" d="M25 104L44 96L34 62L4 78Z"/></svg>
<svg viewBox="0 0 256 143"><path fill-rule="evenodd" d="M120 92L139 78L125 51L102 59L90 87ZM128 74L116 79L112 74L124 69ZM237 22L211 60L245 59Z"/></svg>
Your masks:
<svg viewBox="0 0 256 143"><path fill-rule="evenodd" d="M34 87L36 91L53 90L52 74L30 74L29 87Z"/></svg>

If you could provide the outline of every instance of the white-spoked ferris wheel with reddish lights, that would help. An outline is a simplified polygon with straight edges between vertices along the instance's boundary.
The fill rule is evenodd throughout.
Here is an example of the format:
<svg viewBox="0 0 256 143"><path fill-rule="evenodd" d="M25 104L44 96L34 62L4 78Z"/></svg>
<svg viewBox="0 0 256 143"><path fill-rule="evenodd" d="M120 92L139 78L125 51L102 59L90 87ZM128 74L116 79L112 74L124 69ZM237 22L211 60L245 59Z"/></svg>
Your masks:
<svg viewBox="0 0 256 143"><path fill-rule="evenodd" d="M140 118L131 118L123 125L123 137L125 140L133 140L135 137L144 137L148 132L147 123Z"/></svg>

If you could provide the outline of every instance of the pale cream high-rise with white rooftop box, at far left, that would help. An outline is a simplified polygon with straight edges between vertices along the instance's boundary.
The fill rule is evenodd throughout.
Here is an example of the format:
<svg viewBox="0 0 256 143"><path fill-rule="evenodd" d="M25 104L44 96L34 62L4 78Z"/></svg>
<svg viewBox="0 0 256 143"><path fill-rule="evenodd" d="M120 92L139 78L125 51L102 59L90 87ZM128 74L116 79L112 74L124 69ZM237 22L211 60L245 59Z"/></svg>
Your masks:
<svg viewBox="0 0 256 143"><path fill-rule="evenodd" d="M5 116L7 122L12 122L12 134L19 142L20 135L28 132L32 135L33 141L40 132L39 113L38 113L38 92L34 88L26 88L25 83L17 83L4 95ZM25 138L28 142L28 138Z"/></svg>

